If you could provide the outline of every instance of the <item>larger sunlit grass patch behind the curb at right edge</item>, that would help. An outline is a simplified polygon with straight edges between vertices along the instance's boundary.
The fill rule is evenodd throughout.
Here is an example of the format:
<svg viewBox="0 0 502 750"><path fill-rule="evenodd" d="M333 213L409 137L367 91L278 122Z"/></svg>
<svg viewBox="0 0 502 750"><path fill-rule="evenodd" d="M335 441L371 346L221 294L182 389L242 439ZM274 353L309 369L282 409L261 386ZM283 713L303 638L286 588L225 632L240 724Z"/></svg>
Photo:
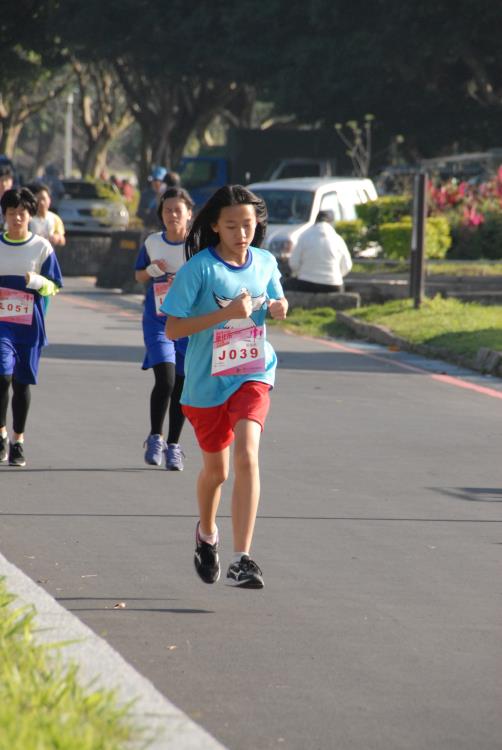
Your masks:
<svg viewBox="0 0 502 750"><path fill-rule="evenodd" d="M500 305L484 306L438 295L424 300L419 310L413 308L412 300L406 299L349 312L366 323L386 326L414 344L427 344L470 357L482 346L502 351Z"/></svg>

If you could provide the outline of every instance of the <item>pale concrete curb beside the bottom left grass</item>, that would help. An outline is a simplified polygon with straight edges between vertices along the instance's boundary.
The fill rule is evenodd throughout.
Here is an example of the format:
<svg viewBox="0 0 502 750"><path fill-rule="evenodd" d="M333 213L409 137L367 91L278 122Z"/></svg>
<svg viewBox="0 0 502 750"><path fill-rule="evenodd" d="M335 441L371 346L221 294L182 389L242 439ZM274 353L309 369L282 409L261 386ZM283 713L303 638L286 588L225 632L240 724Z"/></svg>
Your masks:
<svg viewBox="0 0 502 750"><path fill-rule="evenodd" d="M60 653L65 662L78 665L81 685L92 682L93 687L114 690L121 704L135 701L130 716L139 727L145 727L148 737L152 737L150 744L145 746L142 740L139 746L145 750L225 750L106 641L1 554L0 576L5 577L8 591L17 597L15 606L35 607L37 642L78 641L65 645ZM132 750L135 745L129 747Z"/></svg>

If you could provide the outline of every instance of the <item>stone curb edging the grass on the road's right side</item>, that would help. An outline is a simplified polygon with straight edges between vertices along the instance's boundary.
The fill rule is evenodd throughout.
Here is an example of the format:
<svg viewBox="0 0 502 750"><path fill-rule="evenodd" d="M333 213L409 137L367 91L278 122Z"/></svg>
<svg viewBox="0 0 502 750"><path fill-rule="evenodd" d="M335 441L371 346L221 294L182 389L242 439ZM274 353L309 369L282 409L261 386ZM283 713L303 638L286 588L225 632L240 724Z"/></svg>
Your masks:
<svg viewBox="0 0 502 750"><path fill-rule="evenodd" d="M449 349L427 346L427 344L412 344L410 341L396 336L385 326L375 323L363 323L352 315L347 315L347 313L337 311L336 319L346 325L347 328L350 328L359 338L374 341L384 346L395 346L404 351L421 354L424 357L444 359L461 367L468 367L471 370L481 372L483 375L502 377L502 352L481 347L476 357L472 359L461 354L453 354Z"/></svg>

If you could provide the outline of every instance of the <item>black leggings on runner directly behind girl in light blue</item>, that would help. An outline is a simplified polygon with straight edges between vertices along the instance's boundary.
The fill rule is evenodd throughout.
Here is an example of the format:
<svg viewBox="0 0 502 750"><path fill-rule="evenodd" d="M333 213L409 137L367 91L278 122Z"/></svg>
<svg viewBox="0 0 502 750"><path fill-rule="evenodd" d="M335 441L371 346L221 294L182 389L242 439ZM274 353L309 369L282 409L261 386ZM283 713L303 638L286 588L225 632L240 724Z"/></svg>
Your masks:
<svg viewBox="0 0 502 750"><path fill-rule="evenodd" d="M183 375L176 374L172 362L161 362L153 366L155 385L150 396L150 424L152 435L162 435L164 419L169 406L168 443L179 443L181 430L185 423L185 416L181 411L181 391L183 390Z"/></svg>

